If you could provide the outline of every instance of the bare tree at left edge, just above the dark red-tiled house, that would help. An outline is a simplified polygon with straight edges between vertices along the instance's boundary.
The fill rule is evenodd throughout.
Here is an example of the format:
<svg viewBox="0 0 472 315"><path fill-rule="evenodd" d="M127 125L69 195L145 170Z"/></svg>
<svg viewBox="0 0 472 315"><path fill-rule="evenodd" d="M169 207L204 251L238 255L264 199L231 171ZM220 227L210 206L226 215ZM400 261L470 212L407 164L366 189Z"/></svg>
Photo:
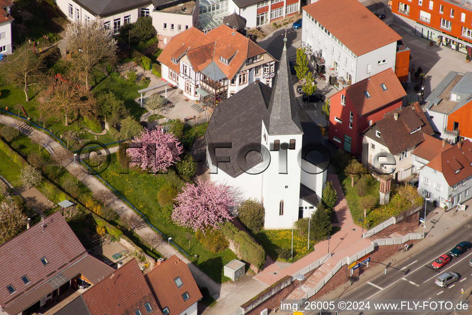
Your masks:
<svg viewBox="0 0 472 315"><path fill-rule="evenodd" d="M16 204L0 204L0 242L6 242L26 227L26 216Z"/></svg>

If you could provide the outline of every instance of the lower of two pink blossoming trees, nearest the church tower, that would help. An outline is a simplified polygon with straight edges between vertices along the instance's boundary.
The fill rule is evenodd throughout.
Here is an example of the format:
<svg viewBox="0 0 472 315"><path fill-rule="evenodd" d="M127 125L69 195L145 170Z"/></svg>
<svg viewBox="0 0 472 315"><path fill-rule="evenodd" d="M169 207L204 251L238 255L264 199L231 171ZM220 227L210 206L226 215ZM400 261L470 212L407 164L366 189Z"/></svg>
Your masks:
<svg viewBox="0 0 472 315"><path fill-rule="evenodd" d="M194 231L216 227L234 217L230 210L236 205L232 187L210 180L202 182L197 179L196 186L186 183L175 200L177 205L174 205L172 220Z"/></svg>

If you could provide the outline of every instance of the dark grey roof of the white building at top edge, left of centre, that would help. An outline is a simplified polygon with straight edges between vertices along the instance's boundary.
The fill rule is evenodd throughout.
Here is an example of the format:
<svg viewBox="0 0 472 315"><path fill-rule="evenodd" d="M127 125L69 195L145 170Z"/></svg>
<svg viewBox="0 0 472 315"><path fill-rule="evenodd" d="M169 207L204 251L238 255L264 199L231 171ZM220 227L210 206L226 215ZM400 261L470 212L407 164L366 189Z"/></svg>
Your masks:
<svg viewBox="0 0 472 315"><path fill-rule="evenodd" d="M151 0L73 0L93 15L101 17L110 16L112 13L123 12L135 7L151 4Z"/></svg>

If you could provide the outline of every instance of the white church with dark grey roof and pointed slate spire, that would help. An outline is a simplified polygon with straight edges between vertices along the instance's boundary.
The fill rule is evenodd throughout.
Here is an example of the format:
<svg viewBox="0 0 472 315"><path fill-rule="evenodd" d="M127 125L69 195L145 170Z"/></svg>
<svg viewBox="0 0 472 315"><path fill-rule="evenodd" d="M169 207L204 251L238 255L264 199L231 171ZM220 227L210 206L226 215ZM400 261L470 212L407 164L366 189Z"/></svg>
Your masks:
<svg viewBox="0 0 472 315"><path fill-rule="evenodd" d="M284 47L275 83L259 80L219 103L205 133L210 178L236 201L265 208L266 229L288 229L316 209L329 153L320 129L298 104Z"/></svg>

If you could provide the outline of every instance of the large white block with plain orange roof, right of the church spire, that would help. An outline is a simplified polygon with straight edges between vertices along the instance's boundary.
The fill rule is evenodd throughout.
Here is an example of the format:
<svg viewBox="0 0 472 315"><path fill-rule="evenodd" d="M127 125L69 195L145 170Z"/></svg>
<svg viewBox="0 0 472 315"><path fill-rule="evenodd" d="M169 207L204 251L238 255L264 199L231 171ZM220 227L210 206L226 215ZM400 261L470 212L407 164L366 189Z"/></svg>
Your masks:
<svg viewBox="0 0 472 315"><path fill-rule="evenodd" d="M343 80L346 86L388 68L400 77L396 54L402 37L359 1L319 0L307 5L302 29L302 42L315 68L326 71L327 80L337 89L343 87Z"/></svg>

